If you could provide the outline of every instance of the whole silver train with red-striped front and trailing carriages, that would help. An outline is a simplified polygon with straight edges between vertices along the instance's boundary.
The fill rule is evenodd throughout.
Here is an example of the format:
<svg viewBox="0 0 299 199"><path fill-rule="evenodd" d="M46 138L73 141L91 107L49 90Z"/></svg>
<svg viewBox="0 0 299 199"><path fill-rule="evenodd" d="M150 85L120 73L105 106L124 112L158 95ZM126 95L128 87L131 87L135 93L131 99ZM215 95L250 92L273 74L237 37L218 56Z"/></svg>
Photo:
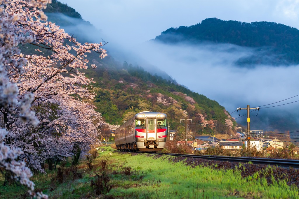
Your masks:
<svg viewBox="0 0 299 199"><path fill-rule="evenodd" d="M166 139L166 114L161 112L137 113L115 130L115 145L120 151L161 151Z"/></svg>

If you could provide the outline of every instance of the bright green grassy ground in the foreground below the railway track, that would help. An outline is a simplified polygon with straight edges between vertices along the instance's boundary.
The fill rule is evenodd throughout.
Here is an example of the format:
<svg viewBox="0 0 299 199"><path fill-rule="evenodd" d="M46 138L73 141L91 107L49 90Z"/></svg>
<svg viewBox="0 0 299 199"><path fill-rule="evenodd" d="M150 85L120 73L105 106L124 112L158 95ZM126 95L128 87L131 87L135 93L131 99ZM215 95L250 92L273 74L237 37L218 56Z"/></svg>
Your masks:
<svg viewBox="0 0 299 199"><path fill-rule="evenodd" d="M77 170L34 175L37 190L49 198L298 198L298 189L284 181L269 185L258 175L240 171L172 163L172 157L105 151ZM105 164L106 163L106 164ZM0 183L4 178L0 176ZM111 188L111 189L110 189ZM110 189L110 190L109 190ZM0 198L24 198L25 188L0 187Z"/></svg>

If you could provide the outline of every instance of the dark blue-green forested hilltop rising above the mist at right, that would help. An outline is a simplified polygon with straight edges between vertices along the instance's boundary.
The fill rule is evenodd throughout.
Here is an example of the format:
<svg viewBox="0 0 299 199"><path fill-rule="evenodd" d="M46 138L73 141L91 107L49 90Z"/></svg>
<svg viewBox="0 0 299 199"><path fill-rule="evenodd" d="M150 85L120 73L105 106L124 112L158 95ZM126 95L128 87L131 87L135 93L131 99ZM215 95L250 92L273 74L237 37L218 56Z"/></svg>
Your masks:
<svg viewBox="0 0 299 199"><path fill-rule="evenodd" d="M155 41L177 43L189 41L229 43L256 48L256 54L240 59L238 65L247 64L298 64L299 30L274 22L223 21L207 18L192 26L169 28L155 38Z"/></svg>

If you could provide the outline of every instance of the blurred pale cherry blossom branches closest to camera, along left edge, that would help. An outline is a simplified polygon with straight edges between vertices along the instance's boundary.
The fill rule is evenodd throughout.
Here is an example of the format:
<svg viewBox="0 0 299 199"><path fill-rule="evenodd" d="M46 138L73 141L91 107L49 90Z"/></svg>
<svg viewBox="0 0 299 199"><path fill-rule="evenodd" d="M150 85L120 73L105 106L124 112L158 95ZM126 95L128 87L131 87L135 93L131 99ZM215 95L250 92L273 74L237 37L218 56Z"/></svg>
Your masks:
<svg viewBox="0 0 299 199"><path fill-rule="evenodd" d="M49 2L51 1L31 1L30 7L42 9ZM17 161L19 155L22 154L22 150L9 147L4 143L8 134L7 129L9 128L7 125L8 108L21 107L20 117L23 120L31 122L33 125L38 123L34 117L34 112L30 110L29 99L31 95L26 95L22 99L18 98L19 89L15 83L10 82L10 77L21 73L22 66L26 63L24 58L13 58L13 55L20 53L17 46L33 41L32 36L18 34L16 25L19 22L20 14L7 12L5 8L10 3L18 4L18 2L0 0L0 109L3 114L1 115L3 123L6 123L5 126L1 125L0 129L0 166L9 171L15 180L19 180L21 184L27 186L30 189L30 195L37 196L37 198L47 198L42 193L33 192L34 183L29 179L32 176L30 169L25 166L24 161ZM40 13L41 18L45 18L43 12L40 11Z"/></svg>

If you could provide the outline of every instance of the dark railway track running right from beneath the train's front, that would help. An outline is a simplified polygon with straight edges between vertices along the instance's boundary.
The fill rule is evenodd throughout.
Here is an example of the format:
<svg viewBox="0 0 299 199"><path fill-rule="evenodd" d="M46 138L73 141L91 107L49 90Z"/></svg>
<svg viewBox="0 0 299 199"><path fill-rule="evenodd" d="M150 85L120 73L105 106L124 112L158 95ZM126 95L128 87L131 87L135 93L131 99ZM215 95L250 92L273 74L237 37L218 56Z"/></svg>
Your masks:
<svg viewBox="0 0 299 199"><path fill-rule="evenodd" d="M270 159L270 158L252 158L252 157L229 157L229 156L216 156L216 155L192 155L192 154L178 154L178 153L150 153L154 155L171 155L176 157L189 157L189 158L203 158L207 160L216 161L229 161L229 162L243 162L243 163L253 163L253 164L266 164L274 165L280 167L292 167L299 168L298 160L288 160L288 159Z"/></svg>

